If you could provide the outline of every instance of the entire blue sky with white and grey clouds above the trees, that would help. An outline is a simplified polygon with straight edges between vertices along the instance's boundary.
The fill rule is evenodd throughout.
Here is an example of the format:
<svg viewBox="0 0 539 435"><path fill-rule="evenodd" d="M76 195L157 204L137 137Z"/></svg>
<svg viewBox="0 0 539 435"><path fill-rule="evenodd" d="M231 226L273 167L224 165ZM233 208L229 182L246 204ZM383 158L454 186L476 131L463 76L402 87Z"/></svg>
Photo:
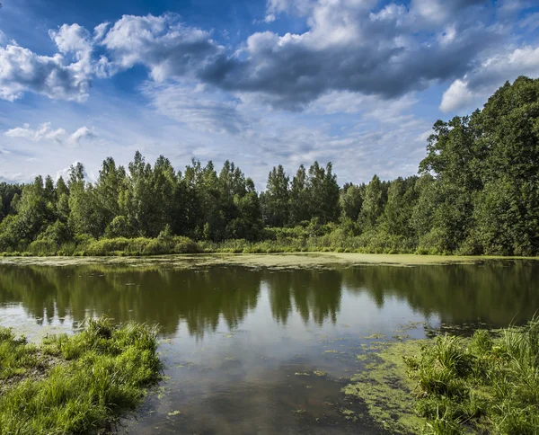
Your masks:
<svg viewBox="0 0 539 435"><path fill-rule="evenodd" d="M88 179L139 150L177 170L417 173L438 119L539 76L535 1L3 0L0 182Z"/></svg>

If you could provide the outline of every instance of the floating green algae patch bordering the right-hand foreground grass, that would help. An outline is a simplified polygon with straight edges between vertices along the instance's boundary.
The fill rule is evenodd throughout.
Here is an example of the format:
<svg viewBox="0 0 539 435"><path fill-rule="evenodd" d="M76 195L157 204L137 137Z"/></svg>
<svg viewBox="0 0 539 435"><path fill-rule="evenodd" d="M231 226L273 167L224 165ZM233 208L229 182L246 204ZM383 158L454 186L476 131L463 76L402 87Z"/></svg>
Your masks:
<svg viewBox="0 0 539 435"><path fill-rule="evenodd" d="M379 352L358 355L364 368L350 378L343 392L367 405L370 417L391 433L418 433L425 420L413 407L413 391L417 382L407 375L403 356L420 354L427 341L409 340L384 343Z"/></svg>

